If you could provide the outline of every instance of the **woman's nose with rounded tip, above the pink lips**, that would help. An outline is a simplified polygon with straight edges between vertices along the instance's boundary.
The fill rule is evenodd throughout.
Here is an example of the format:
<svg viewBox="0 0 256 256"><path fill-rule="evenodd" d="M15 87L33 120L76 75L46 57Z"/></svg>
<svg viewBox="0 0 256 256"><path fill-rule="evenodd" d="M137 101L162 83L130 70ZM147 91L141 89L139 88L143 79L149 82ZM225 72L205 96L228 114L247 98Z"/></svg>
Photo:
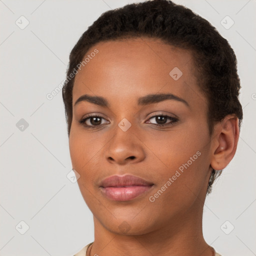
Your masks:
<svg viewBox="0 0 256 256"><path fill-rule="evenodd" d="M105 151L105 157L109 163L124 165L140 162L145 158L143 143L139 136L133 133L131 128L123 131L117 127Z"/></svg>

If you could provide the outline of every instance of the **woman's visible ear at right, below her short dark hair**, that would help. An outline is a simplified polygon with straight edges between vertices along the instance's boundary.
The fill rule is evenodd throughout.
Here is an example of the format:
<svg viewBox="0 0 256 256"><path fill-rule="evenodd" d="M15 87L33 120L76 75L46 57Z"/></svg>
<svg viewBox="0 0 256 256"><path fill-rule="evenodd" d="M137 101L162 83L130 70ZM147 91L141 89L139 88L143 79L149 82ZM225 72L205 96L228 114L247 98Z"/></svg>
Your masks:
<svg viewBox="0 0 256 256"><path fill-rule="evenodd" d="M212 157L210 165L215 170L221 170L233 158L239 138L239 120L233 115L226 115L214 126Z"/></svg>

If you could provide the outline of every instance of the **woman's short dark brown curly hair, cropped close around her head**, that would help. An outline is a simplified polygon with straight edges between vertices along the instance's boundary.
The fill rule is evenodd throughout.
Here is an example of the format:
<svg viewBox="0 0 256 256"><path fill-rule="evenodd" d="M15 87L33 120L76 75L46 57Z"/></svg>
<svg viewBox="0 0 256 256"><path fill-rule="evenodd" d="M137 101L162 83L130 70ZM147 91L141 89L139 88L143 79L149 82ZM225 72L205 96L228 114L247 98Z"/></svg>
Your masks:
<svg viewBox="0 0 256 256"><path fill-rule="evenodd" d="M77 71L77 64L94 44L141 36L161 39L164 43L192 52L198 86L207 98L210 135L213 124L228 114L239 119L240 128L240 80L233 49L207 20L170 0L132 3L102 13L71 50L66 77L73 70ZM62 88L68 137L72 121L73 83L74 77L66 78ZM212 168L207 194L221 172Z"/></svg>

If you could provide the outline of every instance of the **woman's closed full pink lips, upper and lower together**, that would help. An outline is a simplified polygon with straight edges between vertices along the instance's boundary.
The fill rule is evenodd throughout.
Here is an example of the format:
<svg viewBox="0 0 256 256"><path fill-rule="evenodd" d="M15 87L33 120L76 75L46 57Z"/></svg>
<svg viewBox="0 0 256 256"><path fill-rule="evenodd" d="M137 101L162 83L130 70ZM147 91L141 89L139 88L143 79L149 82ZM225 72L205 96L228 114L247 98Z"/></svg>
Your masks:
<svg viewBox="0 0 256 256"><path fill-rule="evenodd" d="M154 184L133 175L112 175L103 179L100 190L108 199L128 201L150 190Z"/></svg>

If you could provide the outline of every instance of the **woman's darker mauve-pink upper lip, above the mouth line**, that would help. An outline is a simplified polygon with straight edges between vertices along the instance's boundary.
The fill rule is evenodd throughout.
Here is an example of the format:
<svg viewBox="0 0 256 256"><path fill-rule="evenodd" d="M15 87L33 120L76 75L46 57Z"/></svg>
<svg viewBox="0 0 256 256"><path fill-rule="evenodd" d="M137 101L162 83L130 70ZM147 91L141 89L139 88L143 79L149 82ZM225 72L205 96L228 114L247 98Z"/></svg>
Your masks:
<svg viewBox="0 0 256 256"><path fill-rule="evenodd" d="M122 176L112 175L104 178L99 186L129 186L129 185L144 185L149 186L153 185L152 182L146 181L143 178L133 176L130 174L125 174Z"/></svg>

